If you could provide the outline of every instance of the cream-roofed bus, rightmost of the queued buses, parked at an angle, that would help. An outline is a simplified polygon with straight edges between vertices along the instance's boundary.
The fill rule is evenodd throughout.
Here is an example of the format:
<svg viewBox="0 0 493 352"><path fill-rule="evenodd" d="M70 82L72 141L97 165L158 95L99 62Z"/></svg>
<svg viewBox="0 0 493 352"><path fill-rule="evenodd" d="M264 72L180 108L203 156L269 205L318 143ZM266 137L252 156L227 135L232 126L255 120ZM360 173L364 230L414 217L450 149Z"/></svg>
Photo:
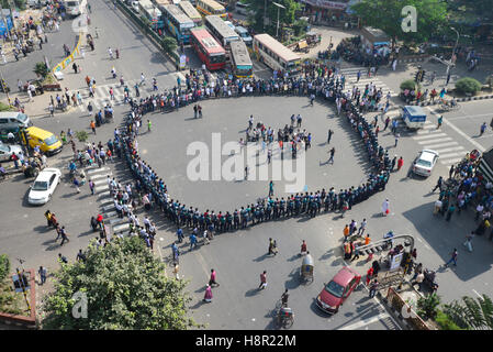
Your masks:
<svg viewBox="0 0 493 352"><path fill-rule="evenodd" d="M272 69L287 72L290 76L300 73L301 56L276 41L269 34L254 36L254 52Z"/></svg>

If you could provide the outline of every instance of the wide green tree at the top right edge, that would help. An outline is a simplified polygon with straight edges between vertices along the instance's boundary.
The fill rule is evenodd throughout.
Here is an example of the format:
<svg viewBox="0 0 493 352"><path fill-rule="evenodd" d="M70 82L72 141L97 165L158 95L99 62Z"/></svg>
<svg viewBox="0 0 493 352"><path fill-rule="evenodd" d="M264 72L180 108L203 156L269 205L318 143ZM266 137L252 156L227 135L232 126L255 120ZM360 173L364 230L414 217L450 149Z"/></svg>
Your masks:
<svg viewBox="0 0 493 352"><path fill-rule="evenodd" d="M402 9L405 6L416 8L416 32L403 32ZM441 0L362 0L351 7L363 25L384 31L395 40L407 43L424 43L436 33L442 31L447 23L447 3Z"/></svg>

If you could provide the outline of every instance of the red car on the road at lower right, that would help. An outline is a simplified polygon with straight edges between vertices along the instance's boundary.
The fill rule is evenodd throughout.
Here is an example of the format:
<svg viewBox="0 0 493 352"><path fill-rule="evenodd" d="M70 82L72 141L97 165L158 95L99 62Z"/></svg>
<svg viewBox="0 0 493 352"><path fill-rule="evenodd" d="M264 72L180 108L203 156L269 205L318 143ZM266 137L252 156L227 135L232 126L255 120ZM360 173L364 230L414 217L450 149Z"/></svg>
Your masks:
<svg viewBox="0 0 493 352"><path fill-rule="evenodd" d="M343 267L316 297L316 305L325 312L337 312L361 280L361 275L348 266Z"/></svg>

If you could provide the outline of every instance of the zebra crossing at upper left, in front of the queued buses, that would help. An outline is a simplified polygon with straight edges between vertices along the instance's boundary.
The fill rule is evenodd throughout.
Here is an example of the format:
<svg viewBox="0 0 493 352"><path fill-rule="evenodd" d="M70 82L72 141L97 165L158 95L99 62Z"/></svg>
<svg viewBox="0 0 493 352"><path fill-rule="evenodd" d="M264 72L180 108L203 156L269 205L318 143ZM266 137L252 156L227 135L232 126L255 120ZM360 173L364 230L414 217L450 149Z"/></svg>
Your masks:
<svg viewBox="0 0 493 352"><path fill-rule="evenodd" d="M172 87L172 85L176 86L177 78L180 78L181 85L184 85L184 82L186 82L186 77L182 73L171 73L171 74L165 75L165 77L166 77L166 82L168 82L168 85L163 86L165 88ZM161 80L161 79L159 79L159 80ZM150 81L152 81L150 79L147 79L147 82L144 86L144 88L146 88L146 87L152 88ZM125 86L127 86L128 89L131 90L131 96L135 92L133 87L135 86L135 84L139 84L139 82L141 82L139 79L138 80L137 79L125 80ZM171 82L171 86L169 86L170 82ZM158 81L158 87L159 87L159 85L160 85L160 82ZM120 81L115 80L113 84L101 85L101 86L97 85L96 89L94 89L94 97L89 97L89 89L87 89L87 88L69 90L69 95L71 96L72 94L75 94L77 96L77 92L80 92L80 96L82 97L82 103L79 103L77 106L79 111L81 111L81 112L86 111L89 102L91 102L93 109L96 111L98 111L100 109L103 109L108 103L110 103L112 107L120 106L120 105L124 103L125 86L120 85ZM114 99L111 99L110 88L113 88ZM161 91L161 90L159 90L159 91ZM147 96L143 88L141 88L141 96L143 96L143 97Z"/></svg>

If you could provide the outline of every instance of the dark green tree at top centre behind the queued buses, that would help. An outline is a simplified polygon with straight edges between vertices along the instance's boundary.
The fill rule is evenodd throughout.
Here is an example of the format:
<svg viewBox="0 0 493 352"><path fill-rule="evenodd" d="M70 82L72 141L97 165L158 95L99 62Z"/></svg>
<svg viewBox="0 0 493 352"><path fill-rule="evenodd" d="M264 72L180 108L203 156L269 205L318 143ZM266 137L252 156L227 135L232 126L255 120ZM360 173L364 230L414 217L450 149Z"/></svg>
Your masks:
<svg viewBox="0 0 493 352"><path fill-rule="evenodd" d="M266 12L266 19L270 19L270 26L266 25L266 30L270 33L276 33L276 26L278 23L278 8L271 0L243 0L242 2L248 3L253 14L248 18L257 33L264 31L264 13ZM295 13L301 9L301 4L294 0L277 0L279 4L282 4L285 9L279 10L279 31L281 26L291 26L296 20ZM280 32L279 32L280 33Z"/></svg>

